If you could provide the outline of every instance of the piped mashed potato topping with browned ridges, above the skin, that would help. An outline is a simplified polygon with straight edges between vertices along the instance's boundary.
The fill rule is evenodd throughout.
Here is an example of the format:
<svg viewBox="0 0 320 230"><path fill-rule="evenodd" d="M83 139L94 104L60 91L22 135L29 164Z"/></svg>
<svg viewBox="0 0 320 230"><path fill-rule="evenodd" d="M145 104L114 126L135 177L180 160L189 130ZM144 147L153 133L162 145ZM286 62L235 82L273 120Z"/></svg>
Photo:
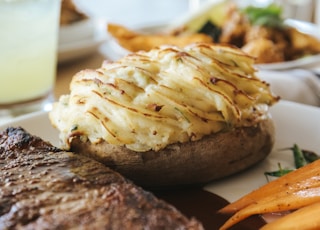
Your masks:
<svg viewBox="0 0 320 230"><path fill-rule="evenodd" d="M77 73L50 112L68 147L74 136L134 151L196 141L268 116L278 98L254 59L228 46L162 46Z"/></svg>

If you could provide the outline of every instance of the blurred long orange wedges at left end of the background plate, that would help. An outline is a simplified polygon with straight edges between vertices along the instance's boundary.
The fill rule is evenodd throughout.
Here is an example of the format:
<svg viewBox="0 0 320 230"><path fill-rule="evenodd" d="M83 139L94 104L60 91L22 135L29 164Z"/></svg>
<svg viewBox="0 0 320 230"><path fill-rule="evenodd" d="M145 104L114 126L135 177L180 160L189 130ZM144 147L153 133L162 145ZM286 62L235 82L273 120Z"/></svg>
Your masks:
<svg viewBox="0 0 320 230"><path fill-rule="evenodd" d="M212 42L212 38L206 34L193 33L176 35L173 33L147 34L130 30L118 24L108 24L108 32L125 49L136 52L149 51L160 45L175 45L184 47L193 42Z"/></svg>

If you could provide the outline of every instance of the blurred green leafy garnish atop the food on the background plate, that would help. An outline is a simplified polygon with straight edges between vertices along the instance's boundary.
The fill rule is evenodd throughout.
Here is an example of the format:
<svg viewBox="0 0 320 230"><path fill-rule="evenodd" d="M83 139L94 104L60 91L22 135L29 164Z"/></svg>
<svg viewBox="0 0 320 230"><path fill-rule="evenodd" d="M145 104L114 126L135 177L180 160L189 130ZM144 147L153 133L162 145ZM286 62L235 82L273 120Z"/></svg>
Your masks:
<svg viewBox="0 0 320 230"><path fill-rule="evenodd" d="M282 27L282 8L276 4L267 7L248 6L242 10L252 25Z"/></svg>

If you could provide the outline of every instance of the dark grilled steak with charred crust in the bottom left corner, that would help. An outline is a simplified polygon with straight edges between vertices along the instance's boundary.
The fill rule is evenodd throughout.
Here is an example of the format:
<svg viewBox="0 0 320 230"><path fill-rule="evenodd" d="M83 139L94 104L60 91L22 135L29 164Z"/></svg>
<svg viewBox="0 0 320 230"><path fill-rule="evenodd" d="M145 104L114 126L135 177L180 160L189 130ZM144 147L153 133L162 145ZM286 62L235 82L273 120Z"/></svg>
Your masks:
<svg viewBox="0 0 320 230"><path fill-rule="evenodd" d="M0 229L203 229L104 165L27 133L0 133Z"/></svg>

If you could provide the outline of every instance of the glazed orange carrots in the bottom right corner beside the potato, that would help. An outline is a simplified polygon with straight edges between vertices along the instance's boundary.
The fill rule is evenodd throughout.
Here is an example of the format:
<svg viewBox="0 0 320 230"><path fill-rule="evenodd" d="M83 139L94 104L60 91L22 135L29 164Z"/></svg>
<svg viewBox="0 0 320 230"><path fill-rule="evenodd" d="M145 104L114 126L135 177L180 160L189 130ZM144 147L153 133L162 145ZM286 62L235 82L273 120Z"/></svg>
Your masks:
<svg viewBox="0 0 320 230"><path fill-rule="evenodd" d="M243 219L266 213L283 213L284 217L262 229L319 229L320 160L300 167L243 196L220 210L234 214L222 227L228 229Z"/></svg>

